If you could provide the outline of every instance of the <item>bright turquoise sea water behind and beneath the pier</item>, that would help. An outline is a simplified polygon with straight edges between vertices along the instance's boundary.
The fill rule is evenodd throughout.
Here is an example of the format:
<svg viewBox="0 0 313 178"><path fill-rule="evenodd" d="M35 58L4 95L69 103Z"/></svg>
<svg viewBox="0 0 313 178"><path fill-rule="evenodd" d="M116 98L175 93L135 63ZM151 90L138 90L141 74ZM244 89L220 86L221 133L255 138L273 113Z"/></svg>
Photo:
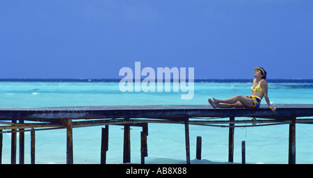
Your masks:
<svg viewBox="0 0 313 178"><path fill-rule="evenodd" d="M208 104L209 97L250 95L251 85L252 79L199 80L194 83L193 99L184 100L184 92L120 92L118 80L2 80L0 107ZM313 80L268 80L268 97L271 104L313 104ZM296 163L313 163L312 129L311 124L296 124ZM241 163L241 140L246 140L246 163L288 163L288 131L287 124L236 128L234 162ZM36 132L36 163L66 163L65 132ZM140 132L141 128L131 127L131 163L141 162ZM77 128L73 136L74 163L99 163L101 127ZM191 125L191 160L196 136L202 136L203 160L191 163L227 162L227 128ZM147 141L146 163L185 163L183 125L149 124ZM111 126L107 163L122 163L122 147L122 127ZM30 161L30 133L26 132L25 163ZM10 163L10 133L3 133L2 162Z"/></svg>

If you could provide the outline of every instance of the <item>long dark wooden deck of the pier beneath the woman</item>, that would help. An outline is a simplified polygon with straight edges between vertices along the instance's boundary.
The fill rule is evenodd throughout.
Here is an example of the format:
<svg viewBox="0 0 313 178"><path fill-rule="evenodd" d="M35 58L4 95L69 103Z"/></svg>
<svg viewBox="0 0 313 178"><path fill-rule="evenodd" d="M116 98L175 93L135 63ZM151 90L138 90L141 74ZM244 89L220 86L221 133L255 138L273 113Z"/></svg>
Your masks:
<svg viewBox="0 0 313 178"><path fill-rule="evenodd" d="M252 108L212 108L209 105L147 105L147 106L89 106L89 107L40 107L40 108L0 108L0 120L58 120L95 118L177 118L195 117L252 117L280 118L294 115L313 115L313 104L278 104L272 112L265 105Z"/></svg>

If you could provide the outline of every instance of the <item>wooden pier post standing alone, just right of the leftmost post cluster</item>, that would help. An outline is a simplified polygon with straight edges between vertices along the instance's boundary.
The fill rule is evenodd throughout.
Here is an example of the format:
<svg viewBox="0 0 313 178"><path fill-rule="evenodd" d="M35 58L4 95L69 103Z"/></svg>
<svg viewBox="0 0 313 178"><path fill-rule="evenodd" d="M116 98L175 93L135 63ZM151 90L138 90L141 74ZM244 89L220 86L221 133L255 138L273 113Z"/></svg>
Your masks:
<svg viewBox="0 0 313 178"><path fill-rule="evenodd" d="M73 125L72 120L67 120L67 147L66 147L66 163L67 164L73 164Z"/></svg>

